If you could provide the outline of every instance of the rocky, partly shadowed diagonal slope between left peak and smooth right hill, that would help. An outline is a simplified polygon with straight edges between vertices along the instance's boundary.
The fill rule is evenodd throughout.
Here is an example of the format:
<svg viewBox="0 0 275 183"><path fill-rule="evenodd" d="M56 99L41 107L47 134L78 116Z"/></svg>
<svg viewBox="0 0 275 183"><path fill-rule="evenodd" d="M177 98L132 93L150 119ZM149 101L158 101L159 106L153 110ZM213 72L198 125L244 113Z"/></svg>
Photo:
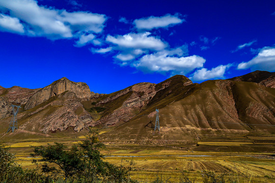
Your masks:
<svg viewBox="0 0 275 183"><path fill-rule="evenodd" d="M92 109L99 107L104 109L99 112L100 119L94 125L109 126L128 121L140 114L145 108L153 106L154 103L181 92L180 89L175 88L184 88L190 84L193 83L187 77L176 75L159 84L139 83L119 92L102 96L96 99L96 102L93 102L92 99L90 103L95 103L95 107ZM89 107L86 109L89 111Z"/></svg>

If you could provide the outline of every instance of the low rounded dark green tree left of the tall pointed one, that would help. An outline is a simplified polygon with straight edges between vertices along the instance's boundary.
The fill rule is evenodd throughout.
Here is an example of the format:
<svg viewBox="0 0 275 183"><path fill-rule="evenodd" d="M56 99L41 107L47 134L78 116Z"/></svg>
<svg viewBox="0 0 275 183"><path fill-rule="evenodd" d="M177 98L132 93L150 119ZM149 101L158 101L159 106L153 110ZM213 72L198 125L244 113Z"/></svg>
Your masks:
<svg viewBox="0 0 275 183"><path fill-rule="evenodd" d="M62 173L65 178L82 171L84 168L81 154L75 145L70 150L66 150L62 143L55 143L55 145L46 147L35 147L32 157L36 156L41 156L42 159L34 160L33 162L44 162L42 165L43 172Z"/></svg>

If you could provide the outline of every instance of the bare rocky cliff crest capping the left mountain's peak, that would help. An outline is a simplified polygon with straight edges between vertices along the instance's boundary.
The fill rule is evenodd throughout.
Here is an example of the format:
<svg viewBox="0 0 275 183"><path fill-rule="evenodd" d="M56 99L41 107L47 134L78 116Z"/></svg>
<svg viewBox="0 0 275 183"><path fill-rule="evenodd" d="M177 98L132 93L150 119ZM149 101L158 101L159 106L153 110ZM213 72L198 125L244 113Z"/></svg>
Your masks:
<svg viewBox="0 0 275 183"><path fill-rule="evenodd" d="M51 97L62 94L65 91L71 91L80 99L90 98L94 93L90 91L89 86L83 82L73 82L67 78L61 78L50 85L39 89L26 103L24 109L31 109Z"/></svg>

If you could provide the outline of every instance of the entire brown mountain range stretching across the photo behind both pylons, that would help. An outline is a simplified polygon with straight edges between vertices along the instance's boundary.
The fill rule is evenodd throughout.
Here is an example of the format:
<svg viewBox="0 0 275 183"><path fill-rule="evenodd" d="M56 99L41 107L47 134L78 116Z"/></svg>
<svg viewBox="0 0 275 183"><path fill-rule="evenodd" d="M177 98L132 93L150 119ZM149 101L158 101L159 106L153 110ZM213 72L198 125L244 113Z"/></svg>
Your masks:
<svg viewBox="0 0 275 183"><path fill-rule="evenodd" d="M108 95L94 94L86 83L67 78L39 89L0 87L0 133L6 133L12 115L9 106L16 103L22 106L19 130L8 135L65 135L100 126L111 127L101 135L107 140L150 139L156 108L161 129L158 138L163 140L194 140L196 134L273 134L273 79L274 73L256 71L198 84L176 75Z"/></svg>

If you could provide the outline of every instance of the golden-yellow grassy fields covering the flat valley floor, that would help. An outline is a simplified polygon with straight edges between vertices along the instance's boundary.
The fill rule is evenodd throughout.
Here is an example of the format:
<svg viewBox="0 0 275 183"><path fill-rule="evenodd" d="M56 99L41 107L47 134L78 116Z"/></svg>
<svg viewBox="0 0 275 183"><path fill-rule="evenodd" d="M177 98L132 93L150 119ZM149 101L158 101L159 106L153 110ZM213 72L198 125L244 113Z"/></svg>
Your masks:
<svg viewBox="0 0 275 183"><path fill-rule="evenodd" d="M17 163L25 168L34 168L32 164L32 146L62 142L67 146L79 143L85 136L64 139L25 139L9 142L11 152L16 155ZM263 140L265 138L265 140ZM261 141L257 141L257 140ZM256 140L256 141L255 141ZM258 143L258 144L257 144ZM268 143L268 144L266 144ZM243 152L238 151L198 151L199 147L208 148L245 148L246 146L270 146L269 152ZM190 180L202 182L203 171L215 172L216 175L234 177L237 182L275 182L275 158L272 156L274 148L273 138L252 137L235 138L228 140L199 141L193 149L179 148L178 145L139 145L139 144L109 144L101 153L105 161L116 165L130 166L133 179L141 182L151 182L157 177L162 180L177 182L188 177ZM207 147L207 148L206 148Z"/></svg>

